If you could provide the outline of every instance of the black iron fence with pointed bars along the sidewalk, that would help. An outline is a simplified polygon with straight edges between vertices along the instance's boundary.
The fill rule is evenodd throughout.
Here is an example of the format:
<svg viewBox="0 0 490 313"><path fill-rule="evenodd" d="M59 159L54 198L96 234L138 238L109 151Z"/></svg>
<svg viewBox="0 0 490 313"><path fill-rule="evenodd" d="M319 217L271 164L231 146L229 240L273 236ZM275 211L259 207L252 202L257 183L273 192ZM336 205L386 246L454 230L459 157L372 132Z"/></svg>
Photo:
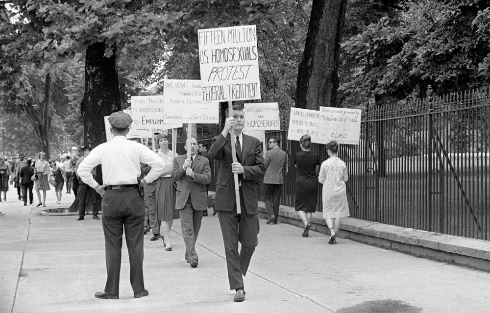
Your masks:
<svg viewBox="0 0 490 313"><path fill-rule="evenodd" d="M359 145L341 145L351 217L490 240L490 88L364 112ZM266 132L287 152L281 204L294 207L297 141ZM211 137L199 139L211 142ZM299 138L298 138L299 140ZM324 145L312 144L320 162ZM183 143L177 153L185 153ZM212 164L215 190L215 164ZM263 184L259 183L263 199ZM317 210L322 211L321 185Z"/></svg>

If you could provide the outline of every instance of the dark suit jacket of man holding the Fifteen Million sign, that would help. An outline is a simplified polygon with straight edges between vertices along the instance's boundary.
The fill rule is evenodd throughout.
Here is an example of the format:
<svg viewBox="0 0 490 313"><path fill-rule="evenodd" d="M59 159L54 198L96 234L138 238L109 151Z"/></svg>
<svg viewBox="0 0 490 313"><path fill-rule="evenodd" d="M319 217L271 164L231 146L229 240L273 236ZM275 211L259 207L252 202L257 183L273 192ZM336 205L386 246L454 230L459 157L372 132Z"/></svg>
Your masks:
<svg viewBox="0 0 490 313"><path fill-rule="evenodd" d="M240 163L244 167L244 174L240 180L242 182L242 192L245 199L245 210L248 214L257 214L257 181L264 177L266 166L262 157L262 147L260 141L252 136L243 135L242 155ZM216 181L216 200L215 210L233 211L235 205L235 182L231 164L233 159L231 156L231 144L235 144L235 140L230 141L230 134L218 135L213 138L209 156L215 160L219 160L218 177ZM242 208L243 210L244 208Z"/></svg>

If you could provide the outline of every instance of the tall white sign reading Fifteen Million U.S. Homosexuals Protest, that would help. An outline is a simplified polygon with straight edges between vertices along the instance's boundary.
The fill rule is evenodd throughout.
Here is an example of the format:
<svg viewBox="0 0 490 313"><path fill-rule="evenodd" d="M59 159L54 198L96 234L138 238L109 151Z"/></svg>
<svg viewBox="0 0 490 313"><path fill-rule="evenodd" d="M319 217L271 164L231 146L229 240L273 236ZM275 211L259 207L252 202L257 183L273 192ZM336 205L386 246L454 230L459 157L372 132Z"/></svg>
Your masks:
<svg viewBox="0 0 490 313"><path fill-rule="evenodd" d="M202 99L260 99L255 25L197 31Z"/></svg>

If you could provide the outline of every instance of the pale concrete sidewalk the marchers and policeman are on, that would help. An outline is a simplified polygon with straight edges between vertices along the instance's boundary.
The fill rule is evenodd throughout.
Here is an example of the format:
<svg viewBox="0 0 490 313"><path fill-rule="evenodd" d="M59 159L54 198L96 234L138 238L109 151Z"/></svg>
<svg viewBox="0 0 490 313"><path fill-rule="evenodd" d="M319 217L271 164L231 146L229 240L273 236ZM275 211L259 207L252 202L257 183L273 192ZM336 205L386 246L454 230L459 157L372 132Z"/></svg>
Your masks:
<svg viewBox="0 0 490 313"><path fill-rule="evenodd" d="M54 191L48 192L55 202ZM73 195L63 194L65 207ZM14 200L15 199L15 200ZM35 200L34 203L37 203ZM105 285L100 220L40 216L11 190L0 203L0 312L490 312L490 273L260 220L245 277L246 301L229 290L217 216L203 217L199 265L184 260L180 221L172 252L145 236L145 285L135 299L123 245L119 300L94 297ZM212 213L212 211L210 211Z"/></svg>

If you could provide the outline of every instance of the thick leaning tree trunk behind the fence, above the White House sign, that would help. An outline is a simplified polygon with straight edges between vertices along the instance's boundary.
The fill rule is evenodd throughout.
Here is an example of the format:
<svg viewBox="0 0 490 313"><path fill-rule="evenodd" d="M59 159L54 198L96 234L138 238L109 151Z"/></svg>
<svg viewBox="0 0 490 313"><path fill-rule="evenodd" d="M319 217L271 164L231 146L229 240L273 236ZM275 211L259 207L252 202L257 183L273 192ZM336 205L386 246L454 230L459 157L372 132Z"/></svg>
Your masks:
<svg viewBox="0 0 490 313"><path fill-rule="evenodd" d="M340 40L347 0L313 0L308 34L299 64L296 107L337 107Z"/></svg>

